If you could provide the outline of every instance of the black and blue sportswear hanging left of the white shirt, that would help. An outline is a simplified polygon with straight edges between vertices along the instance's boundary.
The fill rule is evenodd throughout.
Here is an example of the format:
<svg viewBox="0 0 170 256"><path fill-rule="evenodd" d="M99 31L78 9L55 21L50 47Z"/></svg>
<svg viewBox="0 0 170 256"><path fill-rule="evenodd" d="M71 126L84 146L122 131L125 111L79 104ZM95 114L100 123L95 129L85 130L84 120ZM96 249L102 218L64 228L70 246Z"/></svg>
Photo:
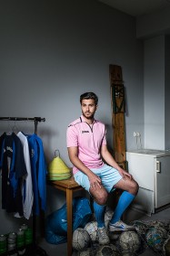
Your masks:
<svg viewBox="0 0 170 256"><path fill-rule="evenodd" d="M3 134L1 143L2 208L23 216L21 185L27 174L23 146L15 133Z"/></svg>

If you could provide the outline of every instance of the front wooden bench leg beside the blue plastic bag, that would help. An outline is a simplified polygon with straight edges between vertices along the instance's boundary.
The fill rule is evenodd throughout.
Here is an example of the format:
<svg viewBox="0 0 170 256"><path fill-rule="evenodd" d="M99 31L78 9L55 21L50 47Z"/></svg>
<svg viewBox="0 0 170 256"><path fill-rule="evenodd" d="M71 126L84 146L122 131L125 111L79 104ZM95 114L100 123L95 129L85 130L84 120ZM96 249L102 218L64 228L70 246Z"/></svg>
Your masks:
<svg viewBox="0 0 170 256"><path fill-rule="evenodd" d="M67 208L67 256L72 255L73 238L73 190L66 188L66 208Z"/></svg>

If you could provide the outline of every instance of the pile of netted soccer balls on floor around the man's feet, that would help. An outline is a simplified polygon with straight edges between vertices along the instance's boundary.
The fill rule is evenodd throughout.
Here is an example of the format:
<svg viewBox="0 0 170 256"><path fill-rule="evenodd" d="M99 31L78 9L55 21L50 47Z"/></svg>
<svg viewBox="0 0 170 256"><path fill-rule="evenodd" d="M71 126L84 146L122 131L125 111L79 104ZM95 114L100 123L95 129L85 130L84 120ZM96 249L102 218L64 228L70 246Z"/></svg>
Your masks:
<svg viewBox="0 0 170 256"><path fill-rule="evenodd" d="M113 211L105 213L105 226L108 227ZM135 220L130 223L135 230L110 232L110 244L99 245L97 223L88 222L85 228L75 229L73 233L73 256L133 256L143 253L147 248L158 255L170 255L170 223L163 221Z"/></svg>

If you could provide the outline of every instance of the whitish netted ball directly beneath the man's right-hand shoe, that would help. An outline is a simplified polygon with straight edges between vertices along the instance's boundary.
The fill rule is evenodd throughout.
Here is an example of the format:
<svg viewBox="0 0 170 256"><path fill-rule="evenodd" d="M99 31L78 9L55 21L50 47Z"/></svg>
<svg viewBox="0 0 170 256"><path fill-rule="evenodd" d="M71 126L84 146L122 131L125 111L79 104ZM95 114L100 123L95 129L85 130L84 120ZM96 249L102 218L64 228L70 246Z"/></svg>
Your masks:
<svg viewBox="0 0 170 256"><path fill-rule="evenodd" d="M140 246L141 240L135 231L124 231L119 236L119 248L124 254L134 254L139 251Z"/></svg>

